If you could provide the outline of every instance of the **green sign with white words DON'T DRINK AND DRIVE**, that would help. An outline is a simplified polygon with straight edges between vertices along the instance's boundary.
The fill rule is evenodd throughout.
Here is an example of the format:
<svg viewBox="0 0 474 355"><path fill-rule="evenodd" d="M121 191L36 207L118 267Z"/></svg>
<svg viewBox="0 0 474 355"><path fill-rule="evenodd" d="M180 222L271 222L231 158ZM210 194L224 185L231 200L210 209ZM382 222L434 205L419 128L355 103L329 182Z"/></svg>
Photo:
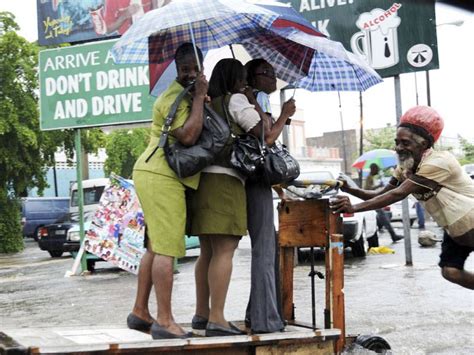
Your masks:
<svg viewBox="0 0 474 355"><path fill-rule="evenodd" d="M41 51L42 130L150 121L148 65L116 65L116 40Z"/></svg>

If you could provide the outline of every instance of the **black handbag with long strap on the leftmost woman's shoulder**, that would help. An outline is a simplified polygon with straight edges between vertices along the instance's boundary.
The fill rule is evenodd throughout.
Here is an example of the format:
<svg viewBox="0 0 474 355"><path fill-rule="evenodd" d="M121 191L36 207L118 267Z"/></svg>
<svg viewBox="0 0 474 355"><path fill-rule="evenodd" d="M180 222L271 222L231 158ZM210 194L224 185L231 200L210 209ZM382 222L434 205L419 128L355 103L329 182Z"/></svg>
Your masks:
<svg viewBox="0 0 474 355"><path fill-rule="evenodd" d="M198 141L192 146L185 146L180 142L168 144L168 135L178 106L191 87L188 86L176 98L163 125L158 146L146 159L148 162L158 148L163 148L170 168L179 178L192 176L211 165L216 155L224 148L230 135L227 121L205 104L204 123Z"/></svg>

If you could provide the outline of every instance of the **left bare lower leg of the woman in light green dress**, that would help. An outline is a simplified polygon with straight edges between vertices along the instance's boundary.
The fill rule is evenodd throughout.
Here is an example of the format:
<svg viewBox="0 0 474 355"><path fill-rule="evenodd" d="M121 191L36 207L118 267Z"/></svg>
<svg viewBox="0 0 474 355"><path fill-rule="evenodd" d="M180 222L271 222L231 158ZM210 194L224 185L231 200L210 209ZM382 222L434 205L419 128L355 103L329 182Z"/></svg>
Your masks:
<svg viewBox="0 0 474 355"><path fill-rule="evenodd" d="M132 313L138 318L153 322L153 317L148 309L148 300L150 299L151 286L151 267L153 264L154 254L150 251L146 251L140 261L140 269L138 271L138 286L137 296L135 298L135 305L133 306Z"/></svg>

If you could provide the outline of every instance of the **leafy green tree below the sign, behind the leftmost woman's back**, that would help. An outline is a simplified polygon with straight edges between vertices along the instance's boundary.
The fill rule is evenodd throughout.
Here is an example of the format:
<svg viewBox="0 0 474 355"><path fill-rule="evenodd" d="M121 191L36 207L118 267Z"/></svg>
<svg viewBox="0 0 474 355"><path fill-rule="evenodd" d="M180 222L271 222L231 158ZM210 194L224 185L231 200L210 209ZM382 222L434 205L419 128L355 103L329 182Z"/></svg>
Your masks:
<svg viewBox="0 0 474 355"><path fill-rule="evenodd" d="M114 172L124 178L131 178L133 165L145 151L149 138L148 128L119 129L109 134L105 146L105 174Z"/></svg>

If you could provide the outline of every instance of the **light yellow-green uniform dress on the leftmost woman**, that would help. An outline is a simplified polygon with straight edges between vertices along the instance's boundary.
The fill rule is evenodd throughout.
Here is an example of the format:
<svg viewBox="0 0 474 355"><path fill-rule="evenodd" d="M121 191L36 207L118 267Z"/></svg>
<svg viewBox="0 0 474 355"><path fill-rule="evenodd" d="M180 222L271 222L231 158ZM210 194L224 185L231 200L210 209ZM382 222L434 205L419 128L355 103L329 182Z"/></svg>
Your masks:
<svg viewBox="0 0 474 355"><path fill-rule="evenodd" d="M145 215L149 245L154 253L173 257L185 255L186 188L196 189L200 174L179 179L169 167L163 149L158 149L162 127L171 105L184 88L174 81L153 105L150 143L133 168L133 180ZM191 99L178 107L171 130L181 127L191 112ZM169 135L170 144L176 141Z"/></svg>

